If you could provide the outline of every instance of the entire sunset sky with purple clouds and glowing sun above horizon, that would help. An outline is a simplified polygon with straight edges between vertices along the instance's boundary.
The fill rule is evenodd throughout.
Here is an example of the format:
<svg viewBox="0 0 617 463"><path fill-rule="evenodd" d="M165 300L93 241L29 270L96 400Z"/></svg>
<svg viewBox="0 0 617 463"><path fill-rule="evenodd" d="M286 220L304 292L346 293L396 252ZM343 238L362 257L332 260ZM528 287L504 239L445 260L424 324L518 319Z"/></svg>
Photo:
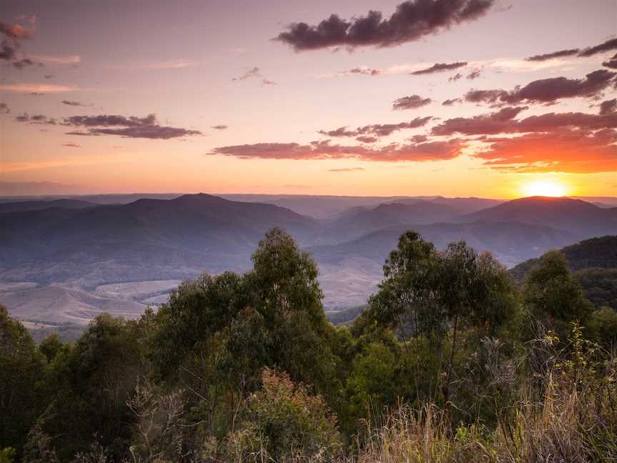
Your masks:
<svg viewBox="0 0 617 463"><path fill-rule="evenodd" d="M0 195L617 196L617 0L2 0Z"/></svg>

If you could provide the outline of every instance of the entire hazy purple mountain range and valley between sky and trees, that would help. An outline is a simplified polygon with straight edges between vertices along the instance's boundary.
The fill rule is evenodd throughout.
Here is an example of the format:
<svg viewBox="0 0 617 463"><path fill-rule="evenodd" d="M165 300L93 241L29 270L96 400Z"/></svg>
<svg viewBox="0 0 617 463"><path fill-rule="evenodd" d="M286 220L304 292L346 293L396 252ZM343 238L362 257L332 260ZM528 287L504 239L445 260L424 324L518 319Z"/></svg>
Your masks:
<svg viewBox="0 0 617 463"><path fill-rule="evenodd" d="M0 203L0 303L19 300L31 318L28 297L42 294L44 287L59 288L44 294L64 292L64 299L56 299L79 299L79 307L87 299L96 306L104 299L97 289L109 284L147 286L199 272L241 272L274 226L313 253L326 307L365 302L381 279L388 252L407 229L416 229L439 248L464 239L478 251L493 252L508 267L551 248L617 234L617 208L571 198L170 196ZM88 299L84 292L97 296ZM123 300L128 298L138 312L153 303L141 293L126 294ZM157 297L157 302L164 300ZM103 305L109 307L109 301Z"/></svg>

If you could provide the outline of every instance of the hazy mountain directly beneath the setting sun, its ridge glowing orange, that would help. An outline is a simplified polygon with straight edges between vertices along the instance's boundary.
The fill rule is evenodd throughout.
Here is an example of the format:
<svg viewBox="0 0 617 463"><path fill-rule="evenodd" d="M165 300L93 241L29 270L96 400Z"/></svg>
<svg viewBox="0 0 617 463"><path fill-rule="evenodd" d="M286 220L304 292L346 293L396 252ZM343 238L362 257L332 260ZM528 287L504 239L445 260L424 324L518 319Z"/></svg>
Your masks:
<svg viewBox="0 0 617 463"><path fill-rule="evenodd" d="M531 196L463 215L457 221L516 221L561 229L584 239L616 233L617 208L601 208L581 199Z"/></svg>

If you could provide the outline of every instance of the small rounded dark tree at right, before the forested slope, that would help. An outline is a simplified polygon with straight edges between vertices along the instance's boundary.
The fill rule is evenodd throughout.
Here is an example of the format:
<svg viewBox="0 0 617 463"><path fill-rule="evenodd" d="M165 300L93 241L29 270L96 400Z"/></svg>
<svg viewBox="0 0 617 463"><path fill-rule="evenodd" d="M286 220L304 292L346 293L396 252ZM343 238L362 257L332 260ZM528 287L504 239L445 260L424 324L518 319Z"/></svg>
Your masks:
<svg viewBox="0 0 617 463"><path fill-rule="evenodd" d="M559 251L544 254L528 273L523 301L530 314L548 324L561 339L566 339L571 322L586 324L593 311Z"/></svg>

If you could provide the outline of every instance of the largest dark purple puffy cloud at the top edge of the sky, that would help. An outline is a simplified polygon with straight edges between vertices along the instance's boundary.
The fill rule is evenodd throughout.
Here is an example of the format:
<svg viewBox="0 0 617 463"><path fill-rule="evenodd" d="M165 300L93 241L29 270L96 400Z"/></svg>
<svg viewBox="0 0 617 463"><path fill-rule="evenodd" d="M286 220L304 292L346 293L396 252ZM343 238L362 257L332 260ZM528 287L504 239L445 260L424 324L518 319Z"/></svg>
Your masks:
<svg viewBox="0 0 617 463"><path fill-rule="evenodd" d="M275 40L296 51L344 46L398 46L436 34L451 26L472 21L486 14L493 0L408 0L383 19L380 11L368 11L349 21L332 14L317 26L294 23Z"/></svg>

